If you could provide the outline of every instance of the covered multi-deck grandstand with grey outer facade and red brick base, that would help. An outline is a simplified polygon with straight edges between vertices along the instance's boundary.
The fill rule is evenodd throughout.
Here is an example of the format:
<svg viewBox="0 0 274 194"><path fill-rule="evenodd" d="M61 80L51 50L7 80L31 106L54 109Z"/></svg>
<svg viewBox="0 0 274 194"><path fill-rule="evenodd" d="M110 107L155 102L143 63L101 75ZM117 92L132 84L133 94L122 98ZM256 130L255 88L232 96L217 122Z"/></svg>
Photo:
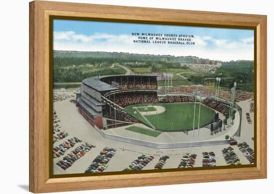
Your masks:
<svg viewBox="0 0 274 194"><path fill-rule="evenodd" d="M112 75L84 79L77 94L80 113L99 129L104 126L139 122L124 107L139 103L157 103L156 75ZM107 123L104 123L104 119ZM120 123L117 124L117 121Z"/></svg>

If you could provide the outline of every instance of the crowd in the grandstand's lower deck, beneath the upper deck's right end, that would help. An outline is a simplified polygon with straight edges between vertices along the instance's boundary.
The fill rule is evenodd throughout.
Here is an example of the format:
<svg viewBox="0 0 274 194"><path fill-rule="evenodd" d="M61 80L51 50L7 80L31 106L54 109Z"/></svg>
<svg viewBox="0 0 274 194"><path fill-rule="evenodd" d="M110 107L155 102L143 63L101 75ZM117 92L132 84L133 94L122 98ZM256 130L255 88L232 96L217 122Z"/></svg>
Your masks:
<svg viewBox="0 0 274 194"><path fill-rule="evenodd" d="M120 93L115 95L115 100L114 97L111 96L111 100L121 107L142 103L158 103L158 97L156 92L147 94L138 92L131 92L130 94Z"/></svg>

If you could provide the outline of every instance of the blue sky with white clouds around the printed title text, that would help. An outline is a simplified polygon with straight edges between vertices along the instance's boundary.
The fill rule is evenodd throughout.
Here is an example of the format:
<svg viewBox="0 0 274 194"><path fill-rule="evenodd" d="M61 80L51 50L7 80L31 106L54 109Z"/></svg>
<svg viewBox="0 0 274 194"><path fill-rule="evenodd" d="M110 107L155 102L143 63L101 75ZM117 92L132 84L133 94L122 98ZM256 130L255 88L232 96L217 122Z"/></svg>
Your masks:
<svg viewBox="0 0 274 194"><path fill-rule="evenodd" d="M209 27L54 20L54 50L197 56L220 61L254 60L254 31ZM136 44L132 32L190 34L195 45Z"/></svg>

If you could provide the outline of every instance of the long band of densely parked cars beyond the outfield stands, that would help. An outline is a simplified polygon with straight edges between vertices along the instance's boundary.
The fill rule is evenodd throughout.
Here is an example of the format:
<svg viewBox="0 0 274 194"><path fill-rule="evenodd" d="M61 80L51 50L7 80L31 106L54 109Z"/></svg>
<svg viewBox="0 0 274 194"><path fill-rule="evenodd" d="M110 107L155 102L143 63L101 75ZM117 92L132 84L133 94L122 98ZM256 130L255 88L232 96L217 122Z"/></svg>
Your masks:
<svg viewBox="0 0 274 194"><path fill-rule="evenodd" d="M164 87L160 89L161 92L164 92ZM183 87L171 87L168 89L171 92L180 92L180 93L190 93L192 94L194 91L202 92L203 95L215 96L215 88L211 89L204 86L183 86ZM220 90L219 98L230 101L231 99L231 91ZM253 92L247 92L242 90L236 90L235 101L239 102L240 100L247 100L250 98L254 98Z"/></svg>

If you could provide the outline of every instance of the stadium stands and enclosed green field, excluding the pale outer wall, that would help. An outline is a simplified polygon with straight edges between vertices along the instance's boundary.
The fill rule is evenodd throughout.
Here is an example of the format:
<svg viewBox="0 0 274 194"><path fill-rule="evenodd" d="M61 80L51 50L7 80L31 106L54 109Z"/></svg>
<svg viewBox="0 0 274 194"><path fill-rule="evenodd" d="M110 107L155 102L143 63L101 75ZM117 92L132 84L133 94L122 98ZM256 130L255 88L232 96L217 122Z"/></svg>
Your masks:
<svg viewBox="0 0 274 194"><path fill-rule="evenodd" d="M154 130L186 131L210 126L217 122L215 115L218 113L223 115L222 119L231 114L229 103L214 99L211 89L172 87L174 94L170 92L168 95L162 95L161 90L157 86L157 75L92 77L82 81L81 90L76 95L76 106L98 129L138 123ZM200 96L202 93L203 97ZM229 99L228 94L221 92L220 96ZM236 101L239 96L236 94ZM218 122L222 123L221 120ZM221 130L220 126L218 130Z"/></svg>

